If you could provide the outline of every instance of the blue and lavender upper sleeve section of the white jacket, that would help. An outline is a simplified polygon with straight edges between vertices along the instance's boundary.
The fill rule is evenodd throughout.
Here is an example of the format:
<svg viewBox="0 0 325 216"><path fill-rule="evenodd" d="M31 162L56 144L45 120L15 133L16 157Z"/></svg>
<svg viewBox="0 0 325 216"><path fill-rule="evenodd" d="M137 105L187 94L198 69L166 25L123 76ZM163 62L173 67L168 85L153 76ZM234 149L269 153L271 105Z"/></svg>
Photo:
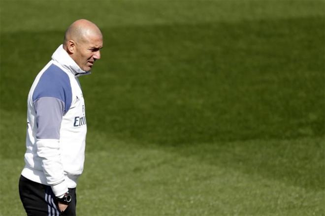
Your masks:
<svg viewBox="0 0 325 216"><path fill-rule="evenodd" d="M41 75L32 101L36 112L36 138L60 139L62 118L72 102L68 75L55 64L50 65Z"/></svg>

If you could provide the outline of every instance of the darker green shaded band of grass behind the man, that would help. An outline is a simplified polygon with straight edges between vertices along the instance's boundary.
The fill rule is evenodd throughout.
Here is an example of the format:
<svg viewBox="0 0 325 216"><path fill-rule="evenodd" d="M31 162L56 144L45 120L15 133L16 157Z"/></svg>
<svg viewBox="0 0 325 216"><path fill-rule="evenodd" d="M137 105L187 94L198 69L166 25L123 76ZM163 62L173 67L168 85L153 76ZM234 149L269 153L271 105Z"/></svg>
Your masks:
<svg viewBox="0 0 325 216"><path fill-rule="evenodd" d="M90 131L324 189L324 142L313 138L324 135L324 19L103 33L102 59L80 79ZM61 39L57 31L1 34L1 109L25 115L32 80Z"/></svg>

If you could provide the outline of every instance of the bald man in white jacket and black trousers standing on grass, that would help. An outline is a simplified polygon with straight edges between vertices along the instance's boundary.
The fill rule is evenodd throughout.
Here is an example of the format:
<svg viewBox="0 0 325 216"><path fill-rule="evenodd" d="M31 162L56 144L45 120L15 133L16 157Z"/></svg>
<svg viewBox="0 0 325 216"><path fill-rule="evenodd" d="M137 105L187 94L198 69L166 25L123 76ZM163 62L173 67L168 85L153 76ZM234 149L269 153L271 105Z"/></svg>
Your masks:
<svg viewBox="0 0 325 216"><path fill-rule="evenodd" d="M76 215L86 117L78 77L90 73L103 46L98 27L77 20L36 76L28 95L25 167L19 194L28 216Z"/></svg>

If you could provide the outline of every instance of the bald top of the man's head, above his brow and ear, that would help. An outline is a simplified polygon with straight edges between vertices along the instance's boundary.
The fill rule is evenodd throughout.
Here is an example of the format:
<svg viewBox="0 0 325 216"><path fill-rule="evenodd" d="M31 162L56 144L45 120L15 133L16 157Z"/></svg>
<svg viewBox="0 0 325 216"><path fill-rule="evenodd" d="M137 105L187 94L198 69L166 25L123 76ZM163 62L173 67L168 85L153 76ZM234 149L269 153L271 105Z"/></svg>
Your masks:
<svg viewBox="0 0 325 216"><path fill-rule="evenodd" d="M65 31L63 46L66 47L69 40L75 42L87 42L88 37L101 36L99 28L89 20L81 19L73 22Z"/></svg>

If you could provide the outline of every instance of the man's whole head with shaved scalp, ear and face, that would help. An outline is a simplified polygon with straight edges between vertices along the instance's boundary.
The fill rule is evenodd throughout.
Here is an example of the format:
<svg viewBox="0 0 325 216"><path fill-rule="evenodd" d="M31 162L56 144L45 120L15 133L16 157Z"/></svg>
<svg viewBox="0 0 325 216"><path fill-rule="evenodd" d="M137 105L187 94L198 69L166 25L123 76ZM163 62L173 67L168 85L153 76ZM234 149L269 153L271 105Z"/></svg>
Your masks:
<svg viewBox="0 0 325 216"><path fill-rule="evenodd" d="M82 70L89 71L94 62L100 59L102 37L94 23L85 19L77 20L65 31L63 48Z"/></svg>

